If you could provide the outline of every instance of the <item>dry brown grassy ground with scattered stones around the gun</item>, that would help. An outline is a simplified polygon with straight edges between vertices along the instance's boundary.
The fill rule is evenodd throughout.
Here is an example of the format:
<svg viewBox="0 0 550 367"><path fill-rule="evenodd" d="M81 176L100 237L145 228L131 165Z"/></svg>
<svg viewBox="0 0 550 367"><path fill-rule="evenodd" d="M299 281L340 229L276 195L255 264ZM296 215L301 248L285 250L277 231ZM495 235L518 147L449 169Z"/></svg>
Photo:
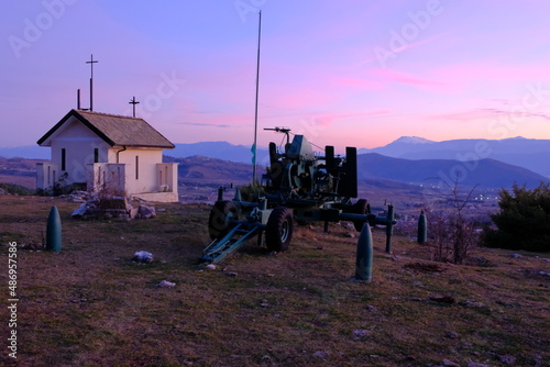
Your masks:
<svg viewBox="0 0 550 367"><path fill-rule="evenodd" d="M63 222L59 254L42 241ZM19 366L548 366L549 254L477 248L468 266L374 231L372 282L350 281L356 234L298 227L288 252L252 241L216 269L197 264L209 207L157 204L151 220L78 221L63 199L0 197L2 362L8 245L18 248ZM397 208L398 210L398 208ZM152 264L131 260L136 251ZM176 283L160 288L162 280ZM13 364L14 365L14 364ZM481 366L481 365L477 365Z"/></svg>

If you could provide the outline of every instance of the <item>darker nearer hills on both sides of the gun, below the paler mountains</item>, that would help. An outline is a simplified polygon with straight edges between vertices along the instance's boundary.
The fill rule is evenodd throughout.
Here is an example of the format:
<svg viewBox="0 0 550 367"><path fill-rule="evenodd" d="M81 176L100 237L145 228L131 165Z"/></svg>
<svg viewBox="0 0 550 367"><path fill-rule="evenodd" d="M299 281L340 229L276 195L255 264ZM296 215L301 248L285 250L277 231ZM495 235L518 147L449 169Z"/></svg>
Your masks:
<svg viewBox="0 0 550 367"><path fill-rule="evenodd" d="M184 182L246 182L252 177L250 164L193 156L187 158L169 158L179 163L179 177ZM264 167L258 168L264 173ZM416 187L453 188L512 188L514 184L536 188L544 177L526 168L508 165L499 160L485 158L476 162L461 163L453 159L419 159L386 157L377 153L358 156L358 180L360 186L372 182L389 181L414 185Z"/></svg>

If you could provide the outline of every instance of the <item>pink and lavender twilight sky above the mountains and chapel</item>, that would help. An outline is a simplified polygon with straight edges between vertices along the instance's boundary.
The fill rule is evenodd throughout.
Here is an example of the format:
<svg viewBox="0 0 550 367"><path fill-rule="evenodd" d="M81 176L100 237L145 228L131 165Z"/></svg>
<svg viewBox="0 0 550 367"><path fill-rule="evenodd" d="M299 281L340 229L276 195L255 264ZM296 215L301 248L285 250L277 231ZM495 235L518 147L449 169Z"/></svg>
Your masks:
<svg viewBox="0 0 550 367"><path fill-rule="evenodd" d="M0 146L70 109L145 119L173 143L285 126L319 146L400 136L550 138L550 2L25 0L0 12Z"/></svg>

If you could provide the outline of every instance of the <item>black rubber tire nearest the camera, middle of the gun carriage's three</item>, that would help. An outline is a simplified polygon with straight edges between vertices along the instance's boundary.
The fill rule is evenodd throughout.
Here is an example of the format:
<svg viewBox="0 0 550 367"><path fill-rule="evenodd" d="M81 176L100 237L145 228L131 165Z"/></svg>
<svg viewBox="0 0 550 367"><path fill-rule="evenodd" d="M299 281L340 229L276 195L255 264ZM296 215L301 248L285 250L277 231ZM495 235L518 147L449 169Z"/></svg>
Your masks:
<svg viewBox="0 0 550 367"><path fill-rule="evenodd" d="M265 229L265 244L270 251L282 252L288 248L293 240L293 211L286 207L275 208Z"/></svg>

